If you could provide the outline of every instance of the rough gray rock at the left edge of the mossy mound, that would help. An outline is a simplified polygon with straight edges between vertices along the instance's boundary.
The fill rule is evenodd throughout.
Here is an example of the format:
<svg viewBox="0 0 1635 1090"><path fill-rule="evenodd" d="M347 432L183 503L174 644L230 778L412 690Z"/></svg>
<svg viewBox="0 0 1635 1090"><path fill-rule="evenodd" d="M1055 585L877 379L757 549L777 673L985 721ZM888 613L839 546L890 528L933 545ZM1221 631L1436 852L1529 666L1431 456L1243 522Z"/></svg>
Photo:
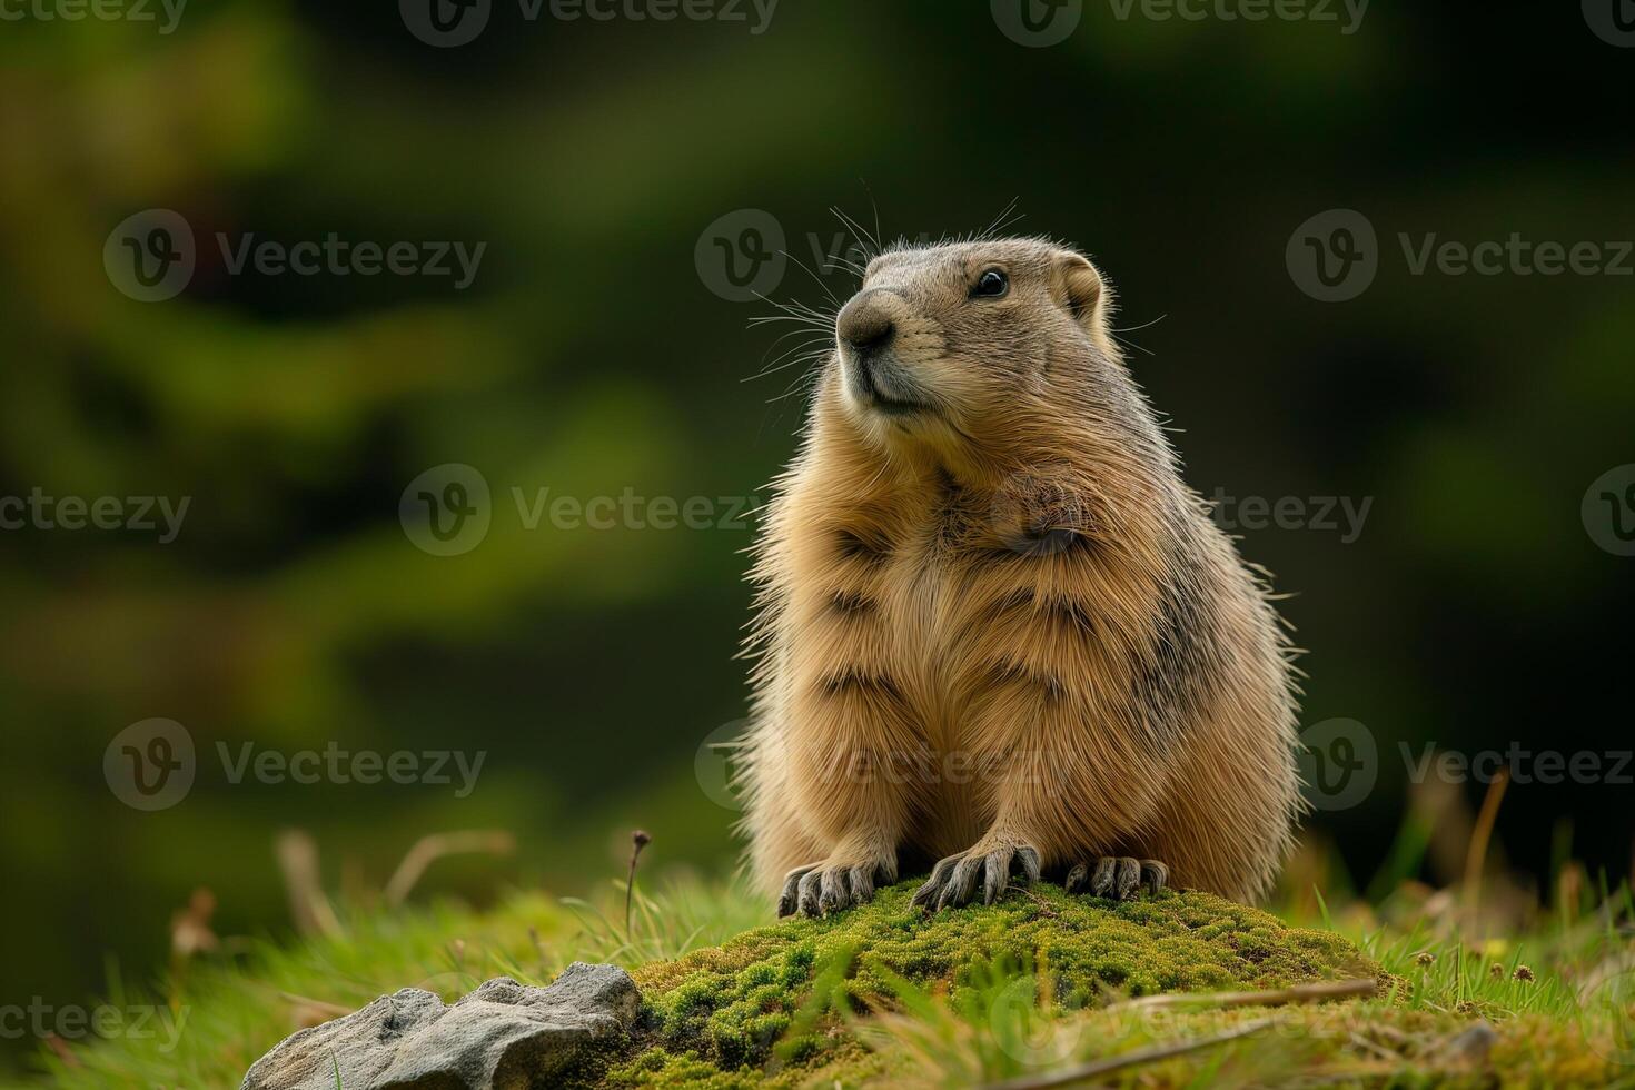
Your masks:
<svg viewBox="0 0 1635 1090"><path fill-rule="evenodd" d="M258 1059L240 1090L538 1090L636 1016L636 982L576 961L549 987L489 981L453 1005L405 987L302 1030Z"/></svg>

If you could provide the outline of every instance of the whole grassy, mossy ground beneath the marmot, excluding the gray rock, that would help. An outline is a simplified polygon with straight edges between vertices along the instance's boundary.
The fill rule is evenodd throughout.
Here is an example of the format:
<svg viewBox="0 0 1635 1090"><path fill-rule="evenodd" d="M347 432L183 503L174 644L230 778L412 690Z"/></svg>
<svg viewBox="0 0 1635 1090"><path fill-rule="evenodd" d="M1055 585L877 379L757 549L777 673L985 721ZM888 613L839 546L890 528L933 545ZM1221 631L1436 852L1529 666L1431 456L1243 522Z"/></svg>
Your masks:
<svg viewBox="0 0 1635 1090"><path fill-rule="evenodd" d="M384 992L455 998L492 976L544 984L582 959L629 967L644 997L631 1038L579 1072L589 1085L970 1087L1192 1043L1094 1085L1635 1088L1628 891L1480 941L1457 899L1413 891L1378 909L1283 905L1301 927L1207 894L1113 905L1048 884L922 920L909 891L772 923L737 887L672 882L638 892L629 933L623 886L592 900L515 894L482 915L342 912L335 936L183 964L159 1000L183 1026L175 1048L160 1036L59 1044L28 1085L232 1087L288 1033ZM1380 981L1380 994L1277 1008L1208 998L1354 976ZM1176 992L1198 998L1128 1002ZM1483 1020L1496 1031L1486 1059L1460 1036Z"/></svg>

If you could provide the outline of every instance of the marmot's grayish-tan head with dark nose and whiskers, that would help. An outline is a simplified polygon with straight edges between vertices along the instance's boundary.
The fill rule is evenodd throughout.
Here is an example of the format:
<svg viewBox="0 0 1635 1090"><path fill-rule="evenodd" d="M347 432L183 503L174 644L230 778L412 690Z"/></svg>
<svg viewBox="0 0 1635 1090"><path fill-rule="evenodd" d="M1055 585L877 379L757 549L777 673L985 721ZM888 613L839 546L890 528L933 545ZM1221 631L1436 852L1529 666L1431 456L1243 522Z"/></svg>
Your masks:
<svg viewBox="0 0 1635 1090"><path fill-rule="evenodd" d="M839 409L889 448L1030 461L1097 391L1128 387L1110 306L1095 268L1051 242L881 253L835 319Z"/></svg>

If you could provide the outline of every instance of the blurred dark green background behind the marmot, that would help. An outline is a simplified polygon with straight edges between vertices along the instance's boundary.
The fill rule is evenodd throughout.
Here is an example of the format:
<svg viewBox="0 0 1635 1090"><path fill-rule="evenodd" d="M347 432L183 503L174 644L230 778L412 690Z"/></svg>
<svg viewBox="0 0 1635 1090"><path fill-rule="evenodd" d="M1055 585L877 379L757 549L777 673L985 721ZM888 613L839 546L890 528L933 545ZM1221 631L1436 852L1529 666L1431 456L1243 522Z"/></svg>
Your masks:
<svg viewBox="0 0 1635 1090"><path fill-rule="evenodd" d="M0 1003L83 1000L106 951L152 979L198 886L221 933L286 931L281 829L316 837L335 891L378 889L451 829L513 830L518 851L440 863L417 896L579 892L620 873L638 824L656 868L731 866L732 814L695 755L744 714L750 533L525 533L508 489L764 492L798 373L742 381L778 332L749 319L772 310L695 268L736 209L773 214L809 261L835 204L937 237L1017 199L1015 230L1118 284L1194 485L1373 498L1352 544L1243 543L1298 593L1305 722L1378 737L1378 788L1313 820L1359 881L1403 811L1398 740L1630 745L1635 559L1597 547L1579 505L1635 461L1635 278L1416 276L1396 242L1635 237L1635 51L1578 5L1377 0L1342 34L1089 0L1064 44L1025 49L986 3L783 0L752 34L528 23L497 0L474 44L432 49L391 5L195 0L168 36L3 23L0 64L0 495L193 497L168 546L0 533ZM103 271L110 230L147 208L201 240L168 302ZM1305 296L1283 257L1331 208L1382 247L1344 304ZM217 230L487 252L466 293L231 276ZM826 306L795 266L773 294ZM495 492L489 538L446 559L397 520L441 462ZM101 758L152 716L188 727L201 771L139 814ZM464 801L234 786L219 740L487 762ZM1568 819L1620 878L1630 799L1512 786L1498 838L1543 874Z"/></svg>

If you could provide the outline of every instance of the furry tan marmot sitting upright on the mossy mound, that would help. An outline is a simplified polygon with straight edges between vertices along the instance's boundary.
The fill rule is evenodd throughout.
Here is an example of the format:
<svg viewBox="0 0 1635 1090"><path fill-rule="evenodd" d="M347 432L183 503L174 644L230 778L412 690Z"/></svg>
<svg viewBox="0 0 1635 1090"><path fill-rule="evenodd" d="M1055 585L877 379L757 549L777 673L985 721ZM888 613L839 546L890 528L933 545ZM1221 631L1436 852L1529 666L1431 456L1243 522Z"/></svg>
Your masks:
<svg viewBox="0 0 1635 1090"><path fill-rule="evenodd" d="M1179 474L1112 293L1038 239L898 247L835 319L750 574L750 869L827 914L1017 878L1262 897L1301 811L1269 590ZM914 863L909 863L909 861Z"/></svg>

